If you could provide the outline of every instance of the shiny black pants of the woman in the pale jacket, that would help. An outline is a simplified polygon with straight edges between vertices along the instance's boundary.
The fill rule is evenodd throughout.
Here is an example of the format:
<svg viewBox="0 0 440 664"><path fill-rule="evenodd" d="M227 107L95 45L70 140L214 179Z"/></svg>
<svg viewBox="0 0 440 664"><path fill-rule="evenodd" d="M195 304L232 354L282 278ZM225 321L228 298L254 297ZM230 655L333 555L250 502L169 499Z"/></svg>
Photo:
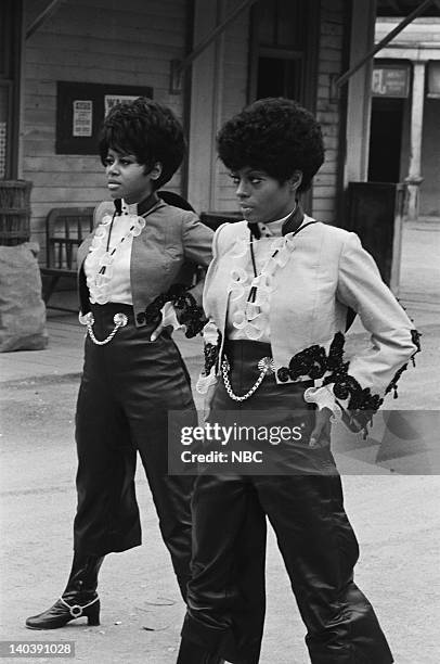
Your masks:
<svg viewBox="0 0 440 664"><path fill-rule="evenodd" d="M268 355L264 346L255 342L229 344L231 383L236 393L243 394L255 382L255 360ZM305 384L279 386L273 376L268 378L237 407L219 384L210 419L221 420L224 410L235 409L238 419L241 412L258 409L268 412L268 423L273 424L277 417L273 413L282 404L292 409L293 421L295 411L301 411L303 420L308 410L306 431L310 432L313 410L307 409L303 388ZM267 515L307 627L311 662L392 662L373 608L353 582L358 542L328 449L294 446L286 475L200 475L192 506L193 575L183 637L234 663L259 661Z"/></svg>

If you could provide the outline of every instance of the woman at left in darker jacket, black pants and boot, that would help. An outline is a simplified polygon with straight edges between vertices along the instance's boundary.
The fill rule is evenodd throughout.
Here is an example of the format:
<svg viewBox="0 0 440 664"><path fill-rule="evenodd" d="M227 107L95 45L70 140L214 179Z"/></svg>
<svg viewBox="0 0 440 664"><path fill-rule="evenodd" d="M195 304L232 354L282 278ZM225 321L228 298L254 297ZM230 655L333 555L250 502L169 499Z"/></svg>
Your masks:
<svg viewBox="0 0 440 664"><path fill-rule="evenodd" d="M202 274L211 259L212 231L179 195L158 191L184 151L180 122L151 99L115 105L101 128L112 200L96 206L93 231L77 258L86 342L75 429L74 557L63 593L27 618L30 629L57 629L86 617L89 625L100 624L104 557L141 544L138 454L186 597L194 478L168 474L168 412L181 409L195 421L196 411L171 332L181 323L194 336L203 327ZM195 273L196 266L203 269Z"/></svg>

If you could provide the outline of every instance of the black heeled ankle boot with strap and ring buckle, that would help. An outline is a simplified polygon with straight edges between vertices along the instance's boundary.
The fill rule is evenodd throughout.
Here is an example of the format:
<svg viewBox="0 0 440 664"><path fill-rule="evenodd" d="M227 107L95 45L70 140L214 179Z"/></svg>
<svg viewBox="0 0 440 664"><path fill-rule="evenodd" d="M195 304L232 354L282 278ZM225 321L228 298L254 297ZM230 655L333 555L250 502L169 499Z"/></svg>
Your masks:
<svg viewBox="0 0 440 664"><path fill-rule="evenodd" d="M104 558L75 553L70 576L61 598L47 611L27 618L29 629L57 629L85 616L89 625L100 624L98 573Z"/></svg>

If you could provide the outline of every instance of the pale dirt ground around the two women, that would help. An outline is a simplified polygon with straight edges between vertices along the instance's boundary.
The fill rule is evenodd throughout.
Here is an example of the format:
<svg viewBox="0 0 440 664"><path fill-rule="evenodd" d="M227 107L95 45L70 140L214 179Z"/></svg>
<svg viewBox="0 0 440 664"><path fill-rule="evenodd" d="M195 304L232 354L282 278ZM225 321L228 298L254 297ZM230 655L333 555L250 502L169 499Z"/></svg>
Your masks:
<svg viewBox="0 0 440 664"><path fill-rule="evenodd" d="M407 229L402 260L403 299L424 334L424 352L417 368L403 375L397 404L438 418L440 233L424 228ZM24 627L26 616L48 608L62 592L72 559L81 342L75 321L65 332L68 324L51 324L54 337L48 350L4 354L0 360L0 639L74 641L75 659L57 657L60 662L173 664L184 606L142 469L137 487L144 542L104 561L101 626L77 621L54 633ZM361 342L362 333L354 329L353 347ZM195 378L198 348L183 344L182 352ZM378 431L368 445L358 440L346 447L344 436L335 437L346 508L361 546L357 582L375 606L397 664L440 661L440 422L429 422L419 439L392 442L388 456ZM261 664L307 664L305 628L272 534L267 571ZM0 646L2 661L16 661L3 652Z"/></svg>

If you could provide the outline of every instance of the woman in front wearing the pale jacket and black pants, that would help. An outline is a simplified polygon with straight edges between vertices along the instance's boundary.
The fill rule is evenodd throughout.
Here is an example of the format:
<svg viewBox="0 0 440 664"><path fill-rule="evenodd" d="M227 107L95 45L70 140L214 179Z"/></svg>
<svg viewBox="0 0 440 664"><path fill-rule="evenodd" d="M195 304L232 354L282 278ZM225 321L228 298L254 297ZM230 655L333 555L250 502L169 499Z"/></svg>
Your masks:
<svg viewBox="0 0 440 664"><path fill-rule="evenodd" d="M207 454L192 500L178 664L259 662L267 518L311 662L390 664L378 620L353 580L359 549L331 426L341 419L367 431L417 352L418 334L359 238L302 212L300 195L324 161L309 111L287 99L259 100L222 127L218 152L243 221L216 231L204 289L197 388L206 395ZM371 343L348 359L352 311Z"/></svg>

